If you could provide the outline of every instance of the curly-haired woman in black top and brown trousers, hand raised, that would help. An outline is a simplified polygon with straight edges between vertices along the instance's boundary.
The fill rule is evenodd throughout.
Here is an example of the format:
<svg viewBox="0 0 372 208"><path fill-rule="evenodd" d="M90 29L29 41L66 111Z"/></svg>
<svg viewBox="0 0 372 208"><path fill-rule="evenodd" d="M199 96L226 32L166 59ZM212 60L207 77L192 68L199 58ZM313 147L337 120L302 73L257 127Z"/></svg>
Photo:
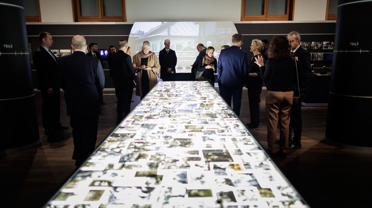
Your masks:
<svg viewBox="0 0 372 208"><path fill-rule="evenodd" d="M276 126L280 126L279 151L276 155L286 158L288 149L289 120L293 102L293 86L297 83L297 63L291 57L288 40L284 36L276 36L270 43L269 60L266 64L263 57L256 57L256 63L263 73L266 84L267 115L267 151L275 152Z"/></svg>

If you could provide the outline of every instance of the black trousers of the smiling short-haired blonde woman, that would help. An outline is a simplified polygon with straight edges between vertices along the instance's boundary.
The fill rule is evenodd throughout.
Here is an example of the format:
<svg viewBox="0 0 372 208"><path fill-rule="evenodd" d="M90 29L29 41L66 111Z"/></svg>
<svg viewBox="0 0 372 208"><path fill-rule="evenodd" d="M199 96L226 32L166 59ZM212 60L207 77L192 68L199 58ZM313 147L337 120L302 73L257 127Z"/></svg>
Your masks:
<svg viewBox="0 0 372 208"><path fill-rule="evenodd" d="M258 126L260 123L259 101L262 90L261 77L249 77L247 81L249 111L251 115L251 125Z"/></svg>

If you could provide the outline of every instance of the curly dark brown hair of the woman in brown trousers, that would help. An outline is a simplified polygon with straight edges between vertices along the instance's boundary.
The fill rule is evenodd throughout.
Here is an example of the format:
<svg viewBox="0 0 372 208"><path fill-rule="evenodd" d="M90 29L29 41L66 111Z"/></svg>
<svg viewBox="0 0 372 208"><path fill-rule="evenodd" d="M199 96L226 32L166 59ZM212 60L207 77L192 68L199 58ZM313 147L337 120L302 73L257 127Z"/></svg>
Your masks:
<svg viewBox="0 0 372 208"><path fill-rule="evenodd" d="M275 36L270 42L267 56L271 59L284 59L291 57L291 45L284 36Z"/></svg>

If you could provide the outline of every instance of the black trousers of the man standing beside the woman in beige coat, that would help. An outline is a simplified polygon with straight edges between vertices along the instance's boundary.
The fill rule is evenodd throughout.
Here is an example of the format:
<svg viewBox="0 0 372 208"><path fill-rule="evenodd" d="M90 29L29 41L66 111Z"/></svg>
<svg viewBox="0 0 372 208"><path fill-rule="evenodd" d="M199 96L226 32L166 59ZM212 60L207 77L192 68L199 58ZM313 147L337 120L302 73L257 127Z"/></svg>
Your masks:
<svg viewBox="0 0 372 208"><path fill-rule="evenodd" d="M131 102L133 95L133 85L126 87L115 87L116 97L118 98L118 105L116 112L116 123L121 122L123 118L131 111Z"/></svg>

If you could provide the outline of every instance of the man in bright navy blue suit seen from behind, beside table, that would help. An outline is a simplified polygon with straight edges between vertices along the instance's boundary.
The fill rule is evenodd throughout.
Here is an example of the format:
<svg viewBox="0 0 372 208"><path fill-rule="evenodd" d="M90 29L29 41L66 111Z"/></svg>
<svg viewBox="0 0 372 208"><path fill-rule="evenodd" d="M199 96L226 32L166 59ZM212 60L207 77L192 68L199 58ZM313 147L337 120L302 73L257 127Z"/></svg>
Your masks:
<svg viewBox="0 0 372 208"><path fill-rule="evenodd" d="M217 63L217 77L221 82L219 94L231 106L237 116L240 115L241 93L243 85L248 79L247 52L240 49L243 45L243 36L234 34L232 46L221 50Z"/></svg>

